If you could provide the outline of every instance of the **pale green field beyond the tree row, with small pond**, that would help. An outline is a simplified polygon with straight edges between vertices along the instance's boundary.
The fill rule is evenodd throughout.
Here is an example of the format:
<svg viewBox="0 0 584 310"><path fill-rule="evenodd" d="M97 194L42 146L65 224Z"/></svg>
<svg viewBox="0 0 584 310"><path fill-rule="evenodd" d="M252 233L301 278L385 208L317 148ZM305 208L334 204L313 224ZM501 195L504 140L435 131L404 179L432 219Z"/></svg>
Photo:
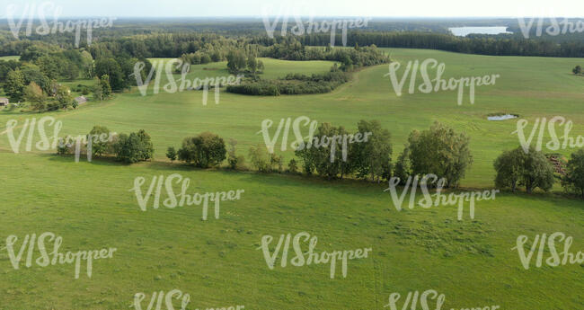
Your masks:
<svg viewBox="0 0 584 310"><path fill-rule="evenodd" d="M392 134L396 158L411 130L429 128L438 120L471 137L473 165L462 182L463 187L469 188L491 187L494 159L503 150L519 146L518 135L511 134L517 129L517 121L489 121L487 115L490 113L516 113L528 120L526 136L535 119L545 117L549 120L554 116L573 121L571 137L584 135L584 127L580 125L584 123L584 112L580 107L584 100L584 84L581 77L570 74L571 66L582 59L490 57L422 49L386 51L404 65L409 60L435 58L446 64L446 79L482 75L500 75L500 78L494 85L477 87L474 104L469 102L466 89L465 100L460 106L456 104L456 92L453 91L409 94L405 93L406 84L402 96L397 96L389 77L384 76L388 72L387 66L363 69L355 74L353 81L333 93L261 97L221 90L216 104L215 93L210 91L207 105L203 104L200 91L164 93L161 86L161 93L155 95L149 92L142 96L132 91L118 94L108 102L90 102L76 111L44 114L1 112L0 132L4 131L7 120L22 121L42 115L62 120L63 135L84 135L93 125L126 133L144 128L153 137L155 159L165 161L164 151L168 146L180 146L183 137L203 131L211 131L225 139L236 139L239 151L245 154L249 146L263 144L261 134L256 134L261 130L262 120L274 120L271 132L275 131L279 120L294 120L299 116L343 125L350 130L356 128L358 120L379 120ZM330 63L323 62L288 63L289 66L279 65L282 75L291 67L303 67L307 71L299 72L305 73L323 72L330 67ZM278 75L275 72L270 74L270 62L266 62L266 71L267 75ZM420 75L417 81L418 84L422 82ZM127 122L128 118L133 120L132 123ZM548 140L549 135L545 132L544 141ZM0 139L0 147L9 147L5 137ZM570 155L571 151L561 149L558 153ZM277 153L283 154L287 161L293 156L289 147Z"/></svg>

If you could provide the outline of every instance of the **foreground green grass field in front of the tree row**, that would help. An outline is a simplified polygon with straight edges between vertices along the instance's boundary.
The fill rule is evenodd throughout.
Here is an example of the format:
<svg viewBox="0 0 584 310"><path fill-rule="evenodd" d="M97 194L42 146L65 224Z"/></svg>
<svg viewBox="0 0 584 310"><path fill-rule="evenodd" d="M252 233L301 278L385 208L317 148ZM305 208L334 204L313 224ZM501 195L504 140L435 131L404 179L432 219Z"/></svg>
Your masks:
<svg viewBox="0 0 584 310"><path fill-rule="evenodd" d="M10 189L0 206L0 234L58 232L62 251L117 249L113 260L93 261L91 279L83 263L79 279L73 265L25 268L22 262L13 270L3 252L2 309L123 309L137 292L146 294L147 303L154 291L173 288L189 293L193 308L384 309L393 292L405 296L420 289L445 294L447 309L581 305L583 266L535 268L534 262L524 270L511 250L518 235L532 240L558 231L574 238L571 251L581 249L584 217L578 200L500 194L494 201L477 201L473 220L465 210L464 220L457 221L455 207L397 212L383 184L200 171L159 162L125 166L75 164L56 155L2 151L0 156L0 182ZM152 199L141 211L128 191L134 179L143 176L148 184L172 173L190 178L189 192L245 191L236 202L221 202L218 219L202 221L201 208L194 206L154 209ZM300 232L318 237L319 252L365 247L373 252L369 259L349 261L347 278L340 265L334 279L328 264L281 268L277 261L269 270L257 250L262 235L277 239Z"/></svg>

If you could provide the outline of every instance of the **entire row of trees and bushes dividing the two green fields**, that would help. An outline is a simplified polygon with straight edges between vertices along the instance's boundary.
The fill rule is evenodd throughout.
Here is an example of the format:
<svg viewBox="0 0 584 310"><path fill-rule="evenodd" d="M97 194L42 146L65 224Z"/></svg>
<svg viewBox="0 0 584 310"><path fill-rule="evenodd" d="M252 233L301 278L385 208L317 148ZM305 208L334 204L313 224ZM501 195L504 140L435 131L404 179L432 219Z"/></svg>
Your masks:
<svg viewBox="0 0 584 310"><path fill-rule="evenodd" d="M106 136L111 139L95 139ZM347 143L353 137L366 138ZM102 126L94 126L82 145L77 145L79 142L66 144L66 139L61 139L58 155L86 155L89 140L92 141L91 154L95 157L111 157L134 164L154 156L151 137L145 130L111 135L111 131ZM470 137L439 122L425 130L413 130L395 164L392 162L391 134L377 120L359 120L355 132L321 123L312 137L306 137L296 146L296 157L288 164L283 155L262 145L251 146L247 157L239 155L237 144L230 139L227 146L222 137L203 132L185 137L178 150L168 147L166 157L171 162L179 160L204 169L220 168L226 162L227 169L237 171L253 169L259 173L318 175L327 180L357 178L381 182L397 177L405 182L410 177L435 174L446 181L447 188L457 188L473 164ZM555 158L531 146L504 151L493 162L495 187L513 192L524 188L532 193L536 189L549 191L555 182L561 182L565 192L584 199L584 150L574 152L565 161Z"/></svg>

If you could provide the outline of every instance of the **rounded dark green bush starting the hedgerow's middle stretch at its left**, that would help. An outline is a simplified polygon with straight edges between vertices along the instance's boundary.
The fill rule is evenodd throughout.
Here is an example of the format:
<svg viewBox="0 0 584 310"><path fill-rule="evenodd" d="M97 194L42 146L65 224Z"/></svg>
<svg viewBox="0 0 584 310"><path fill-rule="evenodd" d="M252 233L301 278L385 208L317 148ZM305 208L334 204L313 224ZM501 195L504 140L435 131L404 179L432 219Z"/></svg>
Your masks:
<svg viewBox="0 0 584 310"><path fill-rule="evenodd" d="M185 137L179 149L179 160L199 168L214 167L226 159L226 144L213 133L203 132L197 137Z"/></svg>

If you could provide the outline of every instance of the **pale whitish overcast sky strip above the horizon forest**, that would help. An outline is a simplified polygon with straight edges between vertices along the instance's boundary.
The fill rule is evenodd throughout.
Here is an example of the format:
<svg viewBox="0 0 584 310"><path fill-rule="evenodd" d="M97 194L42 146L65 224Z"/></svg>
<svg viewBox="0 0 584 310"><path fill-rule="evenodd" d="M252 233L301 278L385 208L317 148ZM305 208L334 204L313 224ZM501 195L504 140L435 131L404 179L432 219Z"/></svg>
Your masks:
<svg viewBox="0 0 584 310"><path fill-rule="evenodd" d="M0 0L0 19L13 4L18 17L27 4L46 1ZM302 16L584 17L583 0L55 0L63 16L115 17L261 17L279 12ZM48 10L46 15L52 16Z"/></svg>

